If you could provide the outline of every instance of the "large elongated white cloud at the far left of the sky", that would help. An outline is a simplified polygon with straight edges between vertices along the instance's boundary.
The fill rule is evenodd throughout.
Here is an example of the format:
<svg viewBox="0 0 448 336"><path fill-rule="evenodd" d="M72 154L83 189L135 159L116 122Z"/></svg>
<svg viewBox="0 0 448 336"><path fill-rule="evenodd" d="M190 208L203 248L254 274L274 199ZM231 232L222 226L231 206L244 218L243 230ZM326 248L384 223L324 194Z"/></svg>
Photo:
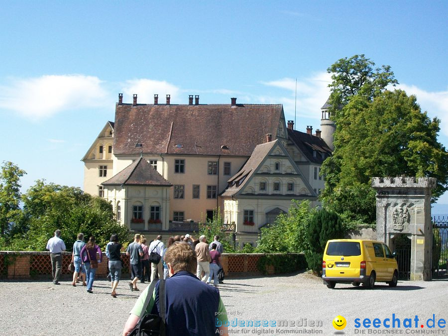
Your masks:
<svg viewBox="0 0 448 336"><path fill-rule="evenodd" d="M93 76L45 75L13 79L10 85L0 86L0 109L33 120L67 110L108 106L108 100L102 81Z"/></svg>

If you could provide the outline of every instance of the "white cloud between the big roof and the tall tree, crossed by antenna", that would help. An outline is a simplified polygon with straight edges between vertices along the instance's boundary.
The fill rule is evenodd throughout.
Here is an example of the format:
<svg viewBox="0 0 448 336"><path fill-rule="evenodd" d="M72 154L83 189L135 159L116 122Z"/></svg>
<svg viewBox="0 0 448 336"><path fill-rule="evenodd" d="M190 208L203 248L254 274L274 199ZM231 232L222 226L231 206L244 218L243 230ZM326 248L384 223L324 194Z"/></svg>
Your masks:
<svg viewBox="0 0 448 336"><path fill-rule="evenodd" d="M320 119L320 108L330 96L328 85L331 83L331 74L319 72L315 75L297 81L297 115L308 118ZM272 104L283 104L285 114L293 115L295 108L296 80L283 78L262 84L289 91L289 97L258 97L260 103L273 102ZM274 103L275 102L275 103ZM269 103L268 103L269 104Z"/></svg>

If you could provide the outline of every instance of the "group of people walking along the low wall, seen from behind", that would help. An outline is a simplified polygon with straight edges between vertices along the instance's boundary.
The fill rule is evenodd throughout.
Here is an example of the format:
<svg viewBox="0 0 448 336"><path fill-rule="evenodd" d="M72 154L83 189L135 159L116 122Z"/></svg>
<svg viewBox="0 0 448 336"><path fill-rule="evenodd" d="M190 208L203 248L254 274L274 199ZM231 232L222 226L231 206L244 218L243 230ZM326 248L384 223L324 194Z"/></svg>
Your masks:
<svg viewBox="0 0 448 336"><path fill-rule="evenodd" d="M61 239L61 230L54 232L54 237L47 243L50 251L52 264L52 281L59 285L59 278L62 267L62 252L66 250L64 241ZM98 263L103 261L103 252L100 246L95 243L95 237L91 236L85 242L84 234L79 233L77 240L73 244L72 260L74 273L72 286L82 282L82 286L87 287L88 293L93 293L93 283ZM169 277L169 267L165 261L167 249L175 243L186 243L196 255L196 276L205 283L217 287L219 285L218 272L221 268L221 254L224 252L223 245L219 241L220 237L215 236L214 241L209 243L205 235L195 238L190 234L176 235L168 238L167 245L162 241L162 236L158 235L151 243L147 244L147 238L136 233L134 239L127 246L125 252L129 256L129 268L131 281L128 283L129 289L139 291L137 283L151 282L154 279L167 279ZM121 277L123 261L121 259L122 244L118 241L118 235L112 234L110 241L106 245L106 256L108 257L109 274L111 281L112 297L116 298L116 288Z"/></svg>

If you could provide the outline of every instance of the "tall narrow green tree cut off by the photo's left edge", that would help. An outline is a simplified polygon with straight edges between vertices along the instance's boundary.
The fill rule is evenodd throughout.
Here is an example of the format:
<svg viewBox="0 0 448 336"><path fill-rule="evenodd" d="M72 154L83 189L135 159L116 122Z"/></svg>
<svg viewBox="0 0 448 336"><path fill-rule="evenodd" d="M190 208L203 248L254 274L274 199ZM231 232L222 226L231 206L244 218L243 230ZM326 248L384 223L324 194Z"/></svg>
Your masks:
<svg viewBox="0 0 448 336"><path fill-rule="evenodd" d="M26 172L10 161L3 161L0 173L0 234L7 240L12 223L21 221L20 178Z"/></svg>

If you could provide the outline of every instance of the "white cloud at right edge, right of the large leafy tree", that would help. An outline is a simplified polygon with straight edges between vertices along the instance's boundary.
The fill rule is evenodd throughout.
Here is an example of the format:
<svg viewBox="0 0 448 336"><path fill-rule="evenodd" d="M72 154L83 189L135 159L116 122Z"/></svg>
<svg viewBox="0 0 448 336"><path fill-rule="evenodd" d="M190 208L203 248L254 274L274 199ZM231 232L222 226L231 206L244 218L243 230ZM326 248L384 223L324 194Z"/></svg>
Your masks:
<svg viewBox="0 0 448 336"><path fill-rule="evenodd" d="M408 95L415 95L422 111L427 111L429 117L441 119L441 132L448 136L448 91L430 92L407 84L397 85L396 88L406 91Z"/></svg>

